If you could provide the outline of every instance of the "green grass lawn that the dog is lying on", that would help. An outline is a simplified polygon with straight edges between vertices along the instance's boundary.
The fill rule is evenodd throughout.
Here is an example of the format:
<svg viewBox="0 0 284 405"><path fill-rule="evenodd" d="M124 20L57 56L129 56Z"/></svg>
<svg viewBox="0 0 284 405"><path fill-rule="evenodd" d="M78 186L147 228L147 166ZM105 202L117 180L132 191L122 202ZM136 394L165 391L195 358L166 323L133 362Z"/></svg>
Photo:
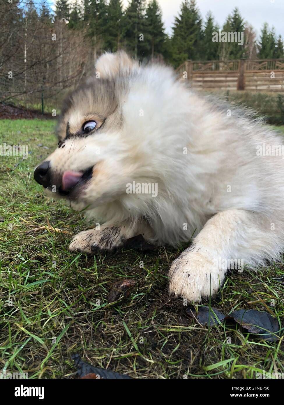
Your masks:
<svg viewBox="0 0 284 405"><path fill-rule="evenodd" d="M51 120L0 121L1 144L28 145L31 152L26 160L0 157L0 369L74 377L70 356L79 353L97 367L144 379L283 373L282 341L253 337L231 321L202 327L181 299L169 297L169 263L182 248L123 249L109 257L68 252L73 234L88 224L33 179L36 164L56 147L53 128ZM61 231L29 232L49 224ZM211 305L226 313L270 311L283 327L283 275L279 263L233 271ZM124 277L136 281L130 297L108 304L113 282Z"/></svg>

